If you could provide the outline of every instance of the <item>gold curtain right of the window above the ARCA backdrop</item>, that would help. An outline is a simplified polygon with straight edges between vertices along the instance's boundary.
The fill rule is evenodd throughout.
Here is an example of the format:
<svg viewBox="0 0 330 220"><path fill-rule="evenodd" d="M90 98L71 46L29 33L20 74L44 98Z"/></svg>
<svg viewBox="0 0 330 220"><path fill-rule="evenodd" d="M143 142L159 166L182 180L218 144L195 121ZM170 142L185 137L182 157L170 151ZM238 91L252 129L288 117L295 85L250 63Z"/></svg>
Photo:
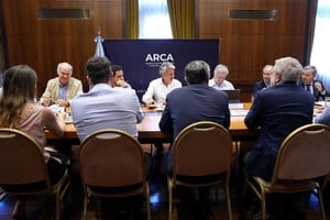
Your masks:
<svg viewBox="0 0 330 220"><path fill-rule="evenodd" d="M194 38L195 0L167 0L174 38Z"/></svg>

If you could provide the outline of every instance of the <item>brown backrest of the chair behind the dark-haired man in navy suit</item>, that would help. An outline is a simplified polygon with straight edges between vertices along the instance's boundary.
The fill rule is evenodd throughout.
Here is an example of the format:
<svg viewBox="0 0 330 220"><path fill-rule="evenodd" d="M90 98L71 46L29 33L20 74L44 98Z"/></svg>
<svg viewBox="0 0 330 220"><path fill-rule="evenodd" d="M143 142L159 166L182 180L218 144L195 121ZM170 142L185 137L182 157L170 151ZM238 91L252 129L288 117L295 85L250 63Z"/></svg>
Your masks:
<svg viewBox="0 0 330 220"><path fill-rule="evenodd" d="M201 121L185 128L174 145L173 178L229 173L232 140L222 125Z"/></svg>

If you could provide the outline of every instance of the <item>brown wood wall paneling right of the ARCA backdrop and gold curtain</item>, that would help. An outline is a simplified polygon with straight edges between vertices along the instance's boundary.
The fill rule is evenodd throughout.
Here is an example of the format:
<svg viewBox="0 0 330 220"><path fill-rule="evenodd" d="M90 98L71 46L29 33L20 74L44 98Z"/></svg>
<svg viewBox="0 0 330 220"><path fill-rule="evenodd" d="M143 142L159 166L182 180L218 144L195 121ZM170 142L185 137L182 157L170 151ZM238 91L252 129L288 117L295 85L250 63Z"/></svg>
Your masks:
<svg viewBox="0 0 330 220"><path fill-rule="evenodd" d="M250 100L265 64L283 56L302 61L307 0L199 0L198 7L199 37L222 38L219 62L228 65L228 79L243 90L243 99ZM278 19L230 20L230 9L277 9Z"/></svg>

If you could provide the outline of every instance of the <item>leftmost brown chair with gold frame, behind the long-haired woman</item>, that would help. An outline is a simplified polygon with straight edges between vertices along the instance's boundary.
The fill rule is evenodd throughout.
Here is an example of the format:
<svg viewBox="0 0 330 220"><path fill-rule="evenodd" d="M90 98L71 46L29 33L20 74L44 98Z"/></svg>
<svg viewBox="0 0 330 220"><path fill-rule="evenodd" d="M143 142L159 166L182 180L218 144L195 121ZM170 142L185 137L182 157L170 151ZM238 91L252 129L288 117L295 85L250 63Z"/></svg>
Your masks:
<svg viewBox="0 0 330 220"><path fill-rule="evenodd" d="M56 219L69 186L68 170L51 185L43 151L34 139L14 129L0 129L0 187L9 195L55 194Z"/></svg>

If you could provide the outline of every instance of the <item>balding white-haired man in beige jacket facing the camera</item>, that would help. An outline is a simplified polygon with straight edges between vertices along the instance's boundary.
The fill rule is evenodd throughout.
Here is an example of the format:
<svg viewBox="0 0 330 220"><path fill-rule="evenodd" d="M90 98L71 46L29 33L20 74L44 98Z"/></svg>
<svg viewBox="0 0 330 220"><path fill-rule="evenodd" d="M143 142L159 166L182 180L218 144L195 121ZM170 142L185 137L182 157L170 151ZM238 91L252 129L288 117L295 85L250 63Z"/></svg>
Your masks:
<svg viewBox="0 0 330 220"><path fill-rule="evenodd" d="M58 77L48 80L47 87L40 99L40 103L48 107L58 105L68 107L74 97L82 94L82 84L79 79L72 77L73 66L68 63L57 65Z"/></svg>

